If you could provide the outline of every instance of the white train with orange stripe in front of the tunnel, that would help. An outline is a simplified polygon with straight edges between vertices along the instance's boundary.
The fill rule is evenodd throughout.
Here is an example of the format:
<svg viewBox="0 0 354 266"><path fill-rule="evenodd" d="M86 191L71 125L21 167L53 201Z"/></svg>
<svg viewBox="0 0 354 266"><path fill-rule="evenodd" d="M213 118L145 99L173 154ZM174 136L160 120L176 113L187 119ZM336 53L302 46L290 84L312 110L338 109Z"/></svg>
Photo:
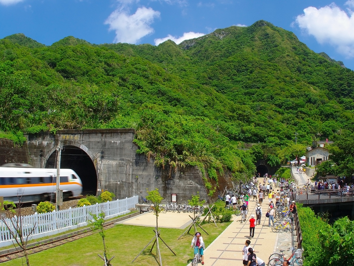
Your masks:
<svg viewBox="0 0 354 266"><path fill-rule="evenodd" d="M6 165L3 165L6 166ZM0 196L4 200L18 203L55 201L56 169L0 167ZM60 189L63 198L78 196L82 192L82 182L78 174L71 169L60 169Z"/></svg>

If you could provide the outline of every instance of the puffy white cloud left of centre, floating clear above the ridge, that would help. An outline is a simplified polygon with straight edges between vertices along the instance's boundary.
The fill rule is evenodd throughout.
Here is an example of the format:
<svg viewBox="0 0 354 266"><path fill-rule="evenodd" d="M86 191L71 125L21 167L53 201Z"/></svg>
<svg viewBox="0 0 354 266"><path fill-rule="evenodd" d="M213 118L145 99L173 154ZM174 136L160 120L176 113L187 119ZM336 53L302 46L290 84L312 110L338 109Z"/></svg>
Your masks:
<svg viewBox="0 0 354 266"><path fill-rule="evenodd" d="M119 8L109 15L105 24L109 24L109 30L115 31L115 42L135 44L144 36L154 32L150 25L155 17L160 17L160 12L151 7L139 7L133 15Z"/></svg>

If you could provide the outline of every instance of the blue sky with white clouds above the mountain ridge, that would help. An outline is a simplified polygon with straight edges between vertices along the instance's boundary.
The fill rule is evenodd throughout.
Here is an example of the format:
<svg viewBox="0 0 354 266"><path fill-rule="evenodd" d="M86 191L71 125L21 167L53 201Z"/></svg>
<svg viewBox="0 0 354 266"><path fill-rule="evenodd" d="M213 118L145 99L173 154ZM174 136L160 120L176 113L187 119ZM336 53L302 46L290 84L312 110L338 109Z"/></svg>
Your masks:
<svg viewBox="0 0 354 266"><path fill-rule="evenodd" d="M24 33L51 45L73 35L96 44L155 45L262 19L354 70L353 11L354 0L0 0L0 38Z"/></svg>

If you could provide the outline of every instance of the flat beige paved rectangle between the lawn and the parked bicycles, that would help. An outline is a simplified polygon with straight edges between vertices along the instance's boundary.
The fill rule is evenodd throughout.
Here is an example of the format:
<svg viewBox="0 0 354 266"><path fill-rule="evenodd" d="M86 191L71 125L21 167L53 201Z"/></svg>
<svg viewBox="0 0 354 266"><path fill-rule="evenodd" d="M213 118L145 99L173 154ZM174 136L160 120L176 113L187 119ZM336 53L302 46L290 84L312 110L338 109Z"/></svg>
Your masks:
<svg viewBox="0 0 354 266"><path fill-rule="evenodd" d="M178 213L178 212L166 212L159 214L159 227L161 228L177 228L184 229L192 224L193 213ZM173 223L171 222L173 221ZM156 216L153 212L144 212L132 218L126 219L124 221L117 222L124 225L139 225L139 226L156 226Z"/></svg>

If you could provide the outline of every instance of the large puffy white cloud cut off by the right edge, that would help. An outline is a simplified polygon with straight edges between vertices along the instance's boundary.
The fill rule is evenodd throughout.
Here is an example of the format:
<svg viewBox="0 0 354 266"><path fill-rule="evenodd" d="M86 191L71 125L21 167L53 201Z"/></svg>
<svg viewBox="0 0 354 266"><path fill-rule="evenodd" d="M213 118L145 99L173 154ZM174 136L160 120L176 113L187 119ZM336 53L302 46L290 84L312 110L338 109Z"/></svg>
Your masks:
<svg viewBox="0 0 354 266"><path fill-rule="evenodd" d="M354 4L354 1L346 4ZM348 15L335 4L320 9L309 6L304 9L304 14L296 17L296 23L320 44L329 43L341 54L354 57L353 12Z"/></svg>

